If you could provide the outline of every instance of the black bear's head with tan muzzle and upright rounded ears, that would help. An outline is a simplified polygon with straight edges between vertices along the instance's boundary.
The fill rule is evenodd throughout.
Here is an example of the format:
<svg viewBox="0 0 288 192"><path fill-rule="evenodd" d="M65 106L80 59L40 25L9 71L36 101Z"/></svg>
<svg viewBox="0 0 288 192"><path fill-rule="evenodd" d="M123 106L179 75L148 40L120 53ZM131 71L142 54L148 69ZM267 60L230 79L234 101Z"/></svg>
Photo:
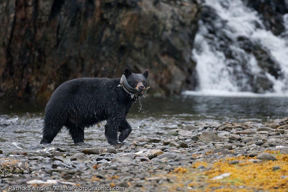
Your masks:
<svg viewBox="0 0 288 192"><path fill-rule="evenodd" d="M148 86L147 84L147 78L149 75L148 70L145 70L144 73L132 73L132 71L126 67L124 69L124 75L127 79L128 84L132 88L138 88L141 89L142 91L139 94L143 94L145 88Z"/></svg>

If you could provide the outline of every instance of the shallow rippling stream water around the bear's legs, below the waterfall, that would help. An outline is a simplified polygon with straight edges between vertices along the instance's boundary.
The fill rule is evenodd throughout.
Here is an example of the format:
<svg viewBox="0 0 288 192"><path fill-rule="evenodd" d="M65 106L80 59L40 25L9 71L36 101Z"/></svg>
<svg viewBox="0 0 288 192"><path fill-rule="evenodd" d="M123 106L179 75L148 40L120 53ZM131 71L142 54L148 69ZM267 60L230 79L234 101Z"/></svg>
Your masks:
<svg viewBox="0 0 288 192"><path fill-rule="evenodd" d="M64 147L70 151L79 149L64 128L52 144L39 145L42 138L43 104L1 102L1 105L0 115L7 114L12 118L0 118L1 150L41 155L46 152L36 151L47 147ZM288 116L287 106L286 97L147 97L142 99L142 109L139 110L140 104L136 102L127 117L132 132L126 142L131 142L138 135L146 138L166 137L168 130L181 128L183 122L266 122ZM94 126L85 130L85 144L81 148L107 146L104 125L105 122L102 122L100 128Z"/></svg>

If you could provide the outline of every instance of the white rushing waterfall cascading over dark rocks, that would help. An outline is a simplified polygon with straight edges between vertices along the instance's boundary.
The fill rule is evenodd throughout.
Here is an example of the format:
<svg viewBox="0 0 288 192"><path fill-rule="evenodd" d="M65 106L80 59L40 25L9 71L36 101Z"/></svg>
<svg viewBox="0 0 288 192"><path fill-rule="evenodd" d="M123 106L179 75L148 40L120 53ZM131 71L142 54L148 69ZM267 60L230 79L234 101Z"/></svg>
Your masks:
<svg viewBox="0 0 288 192"><path fill-rule="evenodd" d="M183 94L288 96L288 39L266 30L259 14L241 0L205 0L205 4L215 9L218 15L213 20L215 36L211 34L211 26L200 20L192 50L193 60L197 62L198 87L197 91L185 91ZM288 30L288 14L283 19ZM231 42L224 44L224 48L223 43L218 43L222 34ZM270 53L270 58L280 66L280 76L276 78L261 69L254 54L239 46L239 37L249 39ZM226 50L232 57L225 56ZM255 88L251 86L251 81L259 75L272 83L272 89L256 91L262 93L260 95L253 93ZM251 80L251 77L254 79Z"/></svg>

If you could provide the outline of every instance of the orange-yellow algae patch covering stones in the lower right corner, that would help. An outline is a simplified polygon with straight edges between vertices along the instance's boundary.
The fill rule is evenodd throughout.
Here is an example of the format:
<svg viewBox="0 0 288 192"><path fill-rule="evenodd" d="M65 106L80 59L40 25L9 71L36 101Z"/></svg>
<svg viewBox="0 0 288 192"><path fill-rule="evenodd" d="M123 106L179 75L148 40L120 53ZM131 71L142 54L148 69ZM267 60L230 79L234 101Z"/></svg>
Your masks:
<svg viewBox="0 0 288 192"><path fill-rule="evenodd" d="M277 160L253 163L251 159L256 157L239 156L211 163L197 161L182 174L177 174L176 171L167 174L171 184L163 183L163 186L169 185L168 191L173 191L176 190L174 186L183 184L183 191L191 192L288 191L288 154L280 154L279 151L265 152L275 155ZM230 164L229 161L232 160L239 160L239 163ZM196 169L199 165L205 167L204 171ZM212 179L224 173L230 175L222 179Z"/></svg>

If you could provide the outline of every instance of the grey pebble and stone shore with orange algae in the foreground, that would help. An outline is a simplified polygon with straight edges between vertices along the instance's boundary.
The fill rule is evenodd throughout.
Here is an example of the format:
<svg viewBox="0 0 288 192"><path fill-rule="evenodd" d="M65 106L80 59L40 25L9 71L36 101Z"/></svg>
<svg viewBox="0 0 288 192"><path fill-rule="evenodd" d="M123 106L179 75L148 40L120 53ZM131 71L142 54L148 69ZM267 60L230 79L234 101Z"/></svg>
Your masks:
<svg viewBox="0 0 288 192"><path fill-rule="evenodd" d="M114 147L50 144L34 146L31 154L21 146L17 151L0 147L0 188L285 191L287 136L288 118L267 123L184 121L166 135L139 136Z"/></svg>

